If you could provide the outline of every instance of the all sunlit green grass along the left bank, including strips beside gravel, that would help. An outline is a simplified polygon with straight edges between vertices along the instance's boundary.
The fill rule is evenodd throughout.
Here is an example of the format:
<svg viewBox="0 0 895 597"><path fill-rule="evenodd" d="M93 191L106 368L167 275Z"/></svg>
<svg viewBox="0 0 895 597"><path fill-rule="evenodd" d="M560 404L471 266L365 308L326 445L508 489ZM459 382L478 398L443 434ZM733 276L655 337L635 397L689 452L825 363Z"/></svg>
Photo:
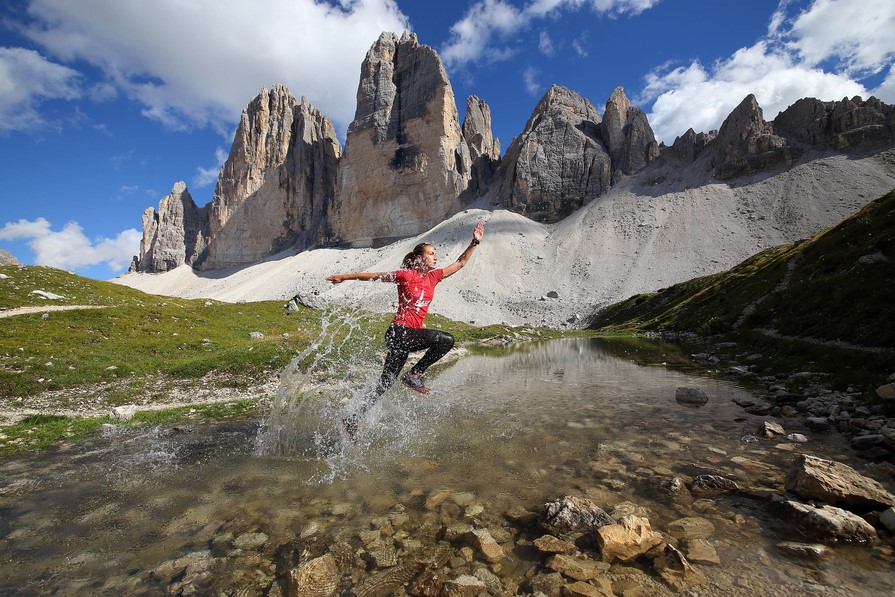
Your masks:
<svg viewBox="0 0 895 597"><path fill-rule="evenodd" d="M161 297L47 267L2 266L0 274L6 276L0 277L0 307L102 307L0 318L0 406L27 404L37 395L55 396L59 408L81 401L111 407L137 398L167 404L175 390L208 383L248 387L276 375L297 355L304 355L303 370L313 363L325 375L342 375L358 362L379 366L391 318L351 309L287 311L283 301L231 304ZM41 299L33 290L64 298ZM429 325L453 333L458 343L477 352L489 350L491 339L562 335L500 325L479 328L436 315ZM252 332L263 337L251 338ZM257 414L255 409L253 401L147 409L127 425L248 416ZM5 426L0 420L0 456L91 436L108 422L107 417L55 415Z"/></svg>

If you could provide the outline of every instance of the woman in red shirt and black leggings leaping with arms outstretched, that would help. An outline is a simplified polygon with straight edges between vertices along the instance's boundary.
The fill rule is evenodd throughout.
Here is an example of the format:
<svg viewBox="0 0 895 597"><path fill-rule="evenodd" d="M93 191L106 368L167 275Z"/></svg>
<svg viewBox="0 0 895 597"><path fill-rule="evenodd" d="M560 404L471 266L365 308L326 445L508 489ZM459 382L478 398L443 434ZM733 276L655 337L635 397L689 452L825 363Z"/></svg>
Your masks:
<svg viewBox="0 0 895 597"><path fill-rule="evenodd" d="M420 243L404 257L401 269L393 272L362 272L355 274L335 274L326 279L333 284L346 280L370 280L392 282L398 285L398 312L385 332L385 365L382 375L372 392L364 396L358 412L342 420L345 432L352 439L357 434L358 420L376 400L388 390L401 373L411 352L425 350L426 353L401 377L401 383L421 394L431 390L423 383L423 374L454 346L454 337L439 330L423 328L423 320L429 312L429 304L435 296L435 286L444 278L460 271L472 257L476 246L482 241L485 225L476 224L472 231L472 241L457 261L445 268L436 269L435 247Z"/></svg>

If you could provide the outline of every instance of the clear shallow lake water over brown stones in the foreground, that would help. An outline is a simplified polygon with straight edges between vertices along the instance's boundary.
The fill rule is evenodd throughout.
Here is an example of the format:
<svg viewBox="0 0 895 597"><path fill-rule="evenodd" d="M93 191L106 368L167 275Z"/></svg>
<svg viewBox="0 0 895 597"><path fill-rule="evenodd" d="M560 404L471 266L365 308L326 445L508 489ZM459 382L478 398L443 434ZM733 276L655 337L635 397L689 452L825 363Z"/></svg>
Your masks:
<svg viewBox="0 0 895 597"><path fill-rule="evenodd" d="M182 578L167 574L166 562L207 550L215 561L209 593L262 594L273 586L280 546L290 542L357 549L362 531L395 513L395 530L413 539L433 523L466 514L502 519L572 494L607 511L632 502L660 532L685 516L711 520L708 540L721 563L697 565L709 583L694 594L892 594L889 545L839 545L817 562L793 559L775 545L799 537L757 501L673 499L660 489L670 477L706 471L782 488L797 453L788 442L752 435L761 419L732 402L745 390L661 361L661 351L583 339L465 356L430 376L432 396L386 394L357 443L343 441L337 420L378 366L332 387L317 383L325 376L315 363L309 372L284 372L262 421L125 431L3 461L0 593L175 591ZM678 404L678 386L702 388L708 404ZM798 449L864 466L836 434ZM427 508L440 491L454 505ZM234 547L259 532L264 545ZM526 533L519 538L539 536ZM433 536L420 531L419 540ZM501 574L522 579L544 559L519 548ZM355 571L342 590L362 580ZM655 590L670 594L663 586Z"/></svg>

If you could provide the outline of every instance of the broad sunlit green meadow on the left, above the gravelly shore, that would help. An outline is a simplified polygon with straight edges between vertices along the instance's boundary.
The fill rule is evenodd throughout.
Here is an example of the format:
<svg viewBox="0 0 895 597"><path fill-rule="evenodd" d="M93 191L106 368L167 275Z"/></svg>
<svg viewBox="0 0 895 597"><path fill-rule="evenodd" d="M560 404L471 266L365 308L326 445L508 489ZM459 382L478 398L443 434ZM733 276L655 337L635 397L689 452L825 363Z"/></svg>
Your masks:
<svg viewBox="0 0 895 597"><path fill-rule="evenodd" d="M34 303L29 288L63 294L63 304L108 305L0 319L0 396L143 376L258 376L282 368L319 329L320 312L286 311L280 301L157 297L43 267L0 267L0 273L9 276L0 279L0 303L9 307ZM251 332L264 337L250 338Z"/></svg>

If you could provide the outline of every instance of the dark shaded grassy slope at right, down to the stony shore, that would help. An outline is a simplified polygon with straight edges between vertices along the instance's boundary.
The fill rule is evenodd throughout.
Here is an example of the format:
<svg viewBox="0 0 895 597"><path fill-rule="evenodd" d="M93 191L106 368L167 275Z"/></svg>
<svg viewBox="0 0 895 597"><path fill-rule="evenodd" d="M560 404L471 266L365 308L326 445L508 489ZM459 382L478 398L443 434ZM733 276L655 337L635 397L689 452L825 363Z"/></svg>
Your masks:
<svg viewBox="0 0 895 597"><path fill-rule="evenodd" d="M895 355L895 191L837 226L711 276L633 296L596 314L600 333L692 332L702 346L757 353L757 375L819 371L835 389L872 389Z"/></svg>

